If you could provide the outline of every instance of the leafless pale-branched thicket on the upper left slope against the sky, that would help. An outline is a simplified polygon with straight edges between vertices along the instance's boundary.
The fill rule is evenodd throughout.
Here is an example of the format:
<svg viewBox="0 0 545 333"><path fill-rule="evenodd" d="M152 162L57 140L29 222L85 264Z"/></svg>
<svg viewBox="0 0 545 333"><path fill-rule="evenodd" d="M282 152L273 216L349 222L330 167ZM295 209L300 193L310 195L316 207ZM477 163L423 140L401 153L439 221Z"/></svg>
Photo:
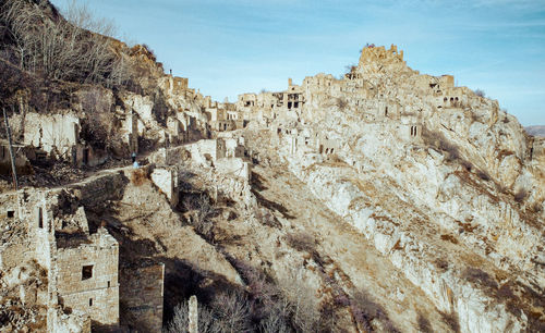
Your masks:
<svg viewBox="0 0 545 333"><path fill-rule="evenodd" d="M107 37L113 34L113 25L95 20L75 1L65 16L68 20L50 17L39 5L24 0L2 5L0 21L13 40L19 66L52 79L107 85L128 79L126 61Z"/></svg>

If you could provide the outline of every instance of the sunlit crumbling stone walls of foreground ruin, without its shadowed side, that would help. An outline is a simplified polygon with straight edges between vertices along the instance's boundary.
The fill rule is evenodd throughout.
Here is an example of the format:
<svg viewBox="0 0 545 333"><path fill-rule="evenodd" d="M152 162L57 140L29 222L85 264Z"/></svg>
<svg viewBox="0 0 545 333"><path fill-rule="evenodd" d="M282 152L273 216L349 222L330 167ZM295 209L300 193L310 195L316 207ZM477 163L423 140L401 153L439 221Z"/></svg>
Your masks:
<svg viewBox="0 0 545 333"><path fill-rule="evenodd" d="M46 288L27 291L23 299L48 309L47 331L89 332L90 322L117 326L118 242L105 229L89 234L83 207L62 208L75 199L64 190L25 189L5 199L11 202L10 224L20 225L24 235L19 244L0 246L0 268L9 271L35 261L45 270Z"/></svg>

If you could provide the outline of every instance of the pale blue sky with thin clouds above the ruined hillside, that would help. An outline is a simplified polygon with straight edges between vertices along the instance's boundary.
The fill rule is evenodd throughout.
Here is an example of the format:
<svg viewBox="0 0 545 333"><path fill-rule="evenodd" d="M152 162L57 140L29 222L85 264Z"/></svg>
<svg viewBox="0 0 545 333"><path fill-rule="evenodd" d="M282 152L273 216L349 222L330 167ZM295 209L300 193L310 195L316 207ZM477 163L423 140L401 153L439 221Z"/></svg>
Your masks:
<svg viewBox="0 0 545 333"><path fill-rule="evenodd" d="M286 89L288 77L337 76L365 44L393 44L413 70L455 75L524 126L545 125L545 0L77 2L219 101Z"/></svg>

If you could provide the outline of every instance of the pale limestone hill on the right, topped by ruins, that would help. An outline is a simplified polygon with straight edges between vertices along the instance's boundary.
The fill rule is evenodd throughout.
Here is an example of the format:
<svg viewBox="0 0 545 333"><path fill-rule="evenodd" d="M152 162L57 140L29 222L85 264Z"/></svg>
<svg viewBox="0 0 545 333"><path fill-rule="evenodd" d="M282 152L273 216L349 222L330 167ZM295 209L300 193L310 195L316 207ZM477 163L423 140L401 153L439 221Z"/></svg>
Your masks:
<svg viewBox="0 0 545 333"><path fill-rule="evenodd" d="M290 171L462 331L543 330L543 141L393 46L364 48L338 92L320 79L267 133Z"/></svg>

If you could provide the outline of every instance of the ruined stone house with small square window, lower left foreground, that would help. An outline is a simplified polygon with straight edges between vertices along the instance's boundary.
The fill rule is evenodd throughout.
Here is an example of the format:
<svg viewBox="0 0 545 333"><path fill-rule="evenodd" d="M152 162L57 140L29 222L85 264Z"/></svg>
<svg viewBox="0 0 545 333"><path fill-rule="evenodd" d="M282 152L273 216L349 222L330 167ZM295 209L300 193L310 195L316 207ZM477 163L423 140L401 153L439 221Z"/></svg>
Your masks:
<svg viewBox="0 0 545 333"><path fill-rule="evenodd" d="M83 207L63 212L60 190L17 194L32 256L48 272L45 306L62 306L100 325L119 323L118 242L105 229L89 234ZM55 318L48 318L48 326Z"/></svg>

